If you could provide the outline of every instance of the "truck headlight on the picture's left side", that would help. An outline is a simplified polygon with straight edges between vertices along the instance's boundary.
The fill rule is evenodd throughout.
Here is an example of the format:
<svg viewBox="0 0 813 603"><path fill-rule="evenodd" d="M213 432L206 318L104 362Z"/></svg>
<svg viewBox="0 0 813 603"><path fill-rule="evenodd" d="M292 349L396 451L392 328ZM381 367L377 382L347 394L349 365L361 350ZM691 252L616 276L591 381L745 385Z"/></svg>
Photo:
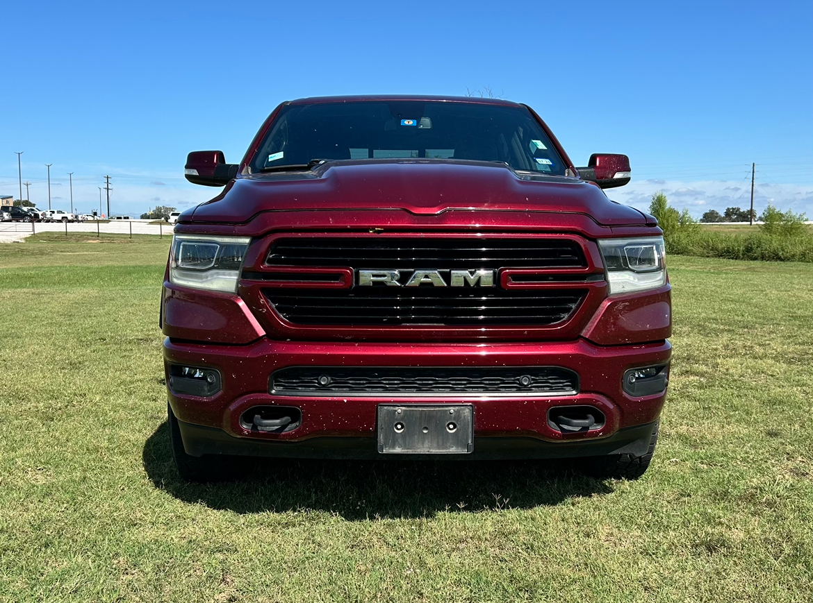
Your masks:
<svg viewBox="0 0 813 603"><path fill-rule="evenodd" d="M169 255L169 282L207 291L237 291L249 237L175 235Z"/></svg>

